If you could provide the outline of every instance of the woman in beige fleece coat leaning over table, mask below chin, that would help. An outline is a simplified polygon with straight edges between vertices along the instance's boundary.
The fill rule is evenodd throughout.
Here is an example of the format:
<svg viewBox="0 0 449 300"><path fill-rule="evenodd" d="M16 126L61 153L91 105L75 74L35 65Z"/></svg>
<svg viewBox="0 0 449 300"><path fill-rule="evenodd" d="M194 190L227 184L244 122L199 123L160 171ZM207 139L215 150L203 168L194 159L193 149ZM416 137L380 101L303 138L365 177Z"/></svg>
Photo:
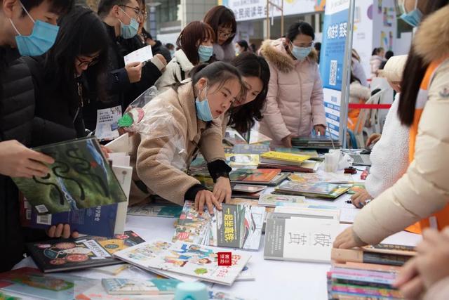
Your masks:
<svg viewBox="0 0 449 300"><path fill-rule="evenodd" d="M192 80L159 94L143 110L145 117L132 138L131 159L135 174L131 204L159 195L183 205L195 202L195 208L209 212L213 206L230 200L229 171L222 147L217 119L241 95L241 76L235 67L217 62L192 70ZM216 182L213 193L185 173L198 150L208 162L210 176Z"/></svg>

